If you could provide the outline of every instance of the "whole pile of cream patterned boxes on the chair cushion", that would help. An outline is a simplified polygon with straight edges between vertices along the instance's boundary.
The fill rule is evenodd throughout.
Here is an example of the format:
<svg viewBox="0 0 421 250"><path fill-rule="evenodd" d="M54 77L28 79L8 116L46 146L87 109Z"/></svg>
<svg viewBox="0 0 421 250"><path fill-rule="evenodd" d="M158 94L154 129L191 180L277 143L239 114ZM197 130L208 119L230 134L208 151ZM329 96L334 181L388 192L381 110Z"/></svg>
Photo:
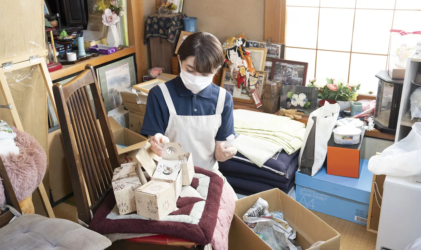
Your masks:
<svg viewBox="0 0 421 250"><path fill-rule="evenodd" d="M116 168L113 188L120 215L137 211L138 215L161 220L176 210L182 186L192 183L195 174L192 154L184 153L179 143L160 146L163 156L157 163L151 158L150 144L146 144L137 152L137 162L123 164L120 170ZM152 176L151 181L147 182L145 175Z"/></svg>

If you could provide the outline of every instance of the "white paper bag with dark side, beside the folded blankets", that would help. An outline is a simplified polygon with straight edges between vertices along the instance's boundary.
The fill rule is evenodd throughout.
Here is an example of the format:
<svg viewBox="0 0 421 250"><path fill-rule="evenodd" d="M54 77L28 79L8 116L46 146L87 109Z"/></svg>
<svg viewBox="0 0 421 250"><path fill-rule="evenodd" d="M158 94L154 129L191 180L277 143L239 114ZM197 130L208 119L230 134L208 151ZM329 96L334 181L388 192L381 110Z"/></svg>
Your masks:
<svg viewBox="0 0 421 250"><path fill-rule="evenodd" d="M328 141L332 136L339 115L339 104L329 104L314 110L307 122L303 146L298 156L298 171L314 176L322 168L328 152Z"/></svg>

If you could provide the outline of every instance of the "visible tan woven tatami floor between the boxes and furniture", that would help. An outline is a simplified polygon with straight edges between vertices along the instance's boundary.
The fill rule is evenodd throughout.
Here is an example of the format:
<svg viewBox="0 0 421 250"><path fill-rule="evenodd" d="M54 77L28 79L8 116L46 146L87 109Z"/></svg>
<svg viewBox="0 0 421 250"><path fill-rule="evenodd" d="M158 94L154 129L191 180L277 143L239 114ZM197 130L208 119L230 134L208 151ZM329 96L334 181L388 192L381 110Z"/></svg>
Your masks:
<svg viewBox="0 0 421 250"><path fill-rule="evenodd" d="M76 222L73 197L53 207L56 218ZM315 215L341 234L341 250L375 250L377 234L365 230L365 226L313 211Z"/></svg>

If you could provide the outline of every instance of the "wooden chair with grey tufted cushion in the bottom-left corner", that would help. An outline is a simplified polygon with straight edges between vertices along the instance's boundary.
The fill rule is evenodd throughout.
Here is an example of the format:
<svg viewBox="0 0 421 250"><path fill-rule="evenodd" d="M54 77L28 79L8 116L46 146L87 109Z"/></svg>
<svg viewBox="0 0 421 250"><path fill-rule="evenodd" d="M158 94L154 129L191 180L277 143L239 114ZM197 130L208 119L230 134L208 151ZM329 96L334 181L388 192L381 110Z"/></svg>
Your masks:
<svg viewBox="0 0 421 250"><path fill-rule="evenodd" d="M111 245L103 235L79 224L38 214L21 215L18 199L0 158L0 178L3 179L6 208L0 214L0 242L2 249L85 249L98 250ZM14 214L11 210L15 209ZM16 218L11 222L11 219Z"/></svg>

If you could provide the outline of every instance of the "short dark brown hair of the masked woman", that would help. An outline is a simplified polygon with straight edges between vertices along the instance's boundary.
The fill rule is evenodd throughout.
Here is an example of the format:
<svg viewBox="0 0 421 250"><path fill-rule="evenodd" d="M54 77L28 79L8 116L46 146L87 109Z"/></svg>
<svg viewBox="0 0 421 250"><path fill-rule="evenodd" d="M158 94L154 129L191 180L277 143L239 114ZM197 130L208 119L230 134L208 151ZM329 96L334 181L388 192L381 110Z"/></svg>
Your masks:
<svg viewBox="0 0 421 250"><path fill-rule="evenodd" d="M202 74L214 74L224 63L224 51L218 39L208 32L189 35L181 43L178 54L180 61L195 56L195 71Z"/></svg>

